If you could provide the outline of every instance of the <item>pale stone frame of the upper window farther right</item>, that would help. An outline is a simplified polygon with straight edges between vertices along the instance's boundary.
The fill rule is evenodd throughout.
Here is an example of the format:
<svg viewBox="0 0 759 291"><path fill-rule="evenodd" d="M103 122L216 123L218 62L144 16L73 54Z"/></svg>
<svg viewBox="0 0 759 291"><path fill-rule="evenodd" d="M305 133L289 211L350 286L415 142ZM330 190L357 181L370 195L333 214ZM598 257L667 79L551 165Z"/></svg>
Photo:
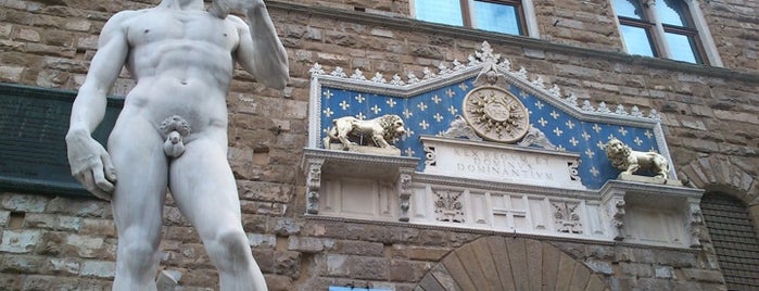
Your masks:
<svg viewBox="0 0 759 291"><path fill-rule="evenodd" d="M628 48L624 41L624 36L621 34L622 25L641 27L648 31L649 34L649 46L654 50L655 58L674 60L674 54L667 40L667 34L681 35L688 38L693 38L695 46L693 47L695 64L711 65L711 66L722 66L722 62L719 54L716 53L717 49L711 40L708 27L704 25L703 16L698 8L694 7L692 0L682 0L682 9L684 12L684 18L687 21L687 26L678 26L671 24L665 24L660 16L656 12L656 5L666 5L661 0L637 0L643 9L642 20L620 16L617 14L617 8L613 2L610 2L612 12L615 13L615 18L617 22L618 30L620 31L620 37L622 38L622 46L624 51L630 54L636 54ZM706 37L705 37L706 36ZM690 63L690 62L688 62Z"/></svg>

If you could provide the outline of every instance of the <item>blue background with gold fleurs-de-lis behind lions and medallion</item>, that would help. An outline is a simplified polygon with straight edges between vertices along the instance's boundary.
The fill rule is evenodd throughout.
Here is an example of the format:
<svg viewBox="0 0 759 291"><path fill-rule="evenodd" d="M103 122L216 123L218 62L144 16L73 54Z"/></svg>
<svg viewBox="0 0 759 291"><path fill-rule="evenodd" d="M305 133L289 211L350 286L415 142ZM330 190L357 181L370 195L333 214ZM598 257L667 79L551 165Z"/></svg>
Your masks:
<svg viewBox="0 0 759 291"><path fill-rule="evenodd" d="M461 115L464 98L473 89L472 81L473 78L410 98L322 87L321 137L326 137L332 119L339 117L371 119L396 114L404 119L407 134L395 147L405 156L419 157L421 162L417 170L421 172L425 151L419 136L438 136L448 128L456 115ZM610 138L615 137L637 151L657 149L654 132L648 128L580 121L517 86L507 89L528 109L530 124L543 131L559 151L580 154L580 177L589 189L599 189L619 174L604 151L604 144Z"/></svg>

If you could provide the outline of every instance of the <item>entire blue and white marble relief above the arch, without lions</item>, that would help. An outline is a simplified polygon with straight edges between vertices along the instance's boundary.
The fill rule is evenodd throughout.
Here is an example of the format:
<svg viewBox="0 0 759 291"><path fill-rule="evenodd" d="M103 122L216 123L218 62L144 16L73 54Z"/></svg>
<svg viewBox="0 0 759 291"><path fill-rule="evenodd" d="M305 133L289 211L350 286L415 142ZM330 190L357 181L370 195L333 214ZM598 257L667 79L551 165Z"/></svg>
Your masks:
<svg viewBox="0 0 759 291"><path fill-rule="evenodd" d="M605 154L616 139L671 165L655 110L644 116L636 106L579 100L523 67L513 69L486 42L466 63L450 64L390 79L314 65L302 163L308 214L700 245L700 190L619 181ZM363 140L360 134L353 136L358 141L340 140L331 123L338 116L356 123L397 116L403 130L383 138L402 156L343 151ZM340 151L313 150L325 146ZM657 174L676 180L671 168Z"/></svg>

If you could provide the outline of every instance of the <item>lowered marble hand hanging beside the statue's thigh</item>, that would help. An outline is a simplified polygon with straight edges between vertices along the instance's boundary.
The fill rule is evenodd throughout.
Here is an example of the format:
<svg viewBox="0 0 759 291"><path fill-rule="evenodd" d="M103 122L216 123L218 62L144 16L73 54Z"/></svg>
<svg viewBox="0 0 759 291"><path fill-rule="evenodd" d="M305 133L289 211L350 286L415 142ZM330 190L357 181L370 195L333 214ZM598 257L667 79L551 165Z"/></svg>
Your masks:
<svg viewBox="0 0 759 291"><path fill-rule="evenodd" d="M69 134L66 148L74 178L96 197L111 200L116 169L103 146L89 135Z"/></svg>

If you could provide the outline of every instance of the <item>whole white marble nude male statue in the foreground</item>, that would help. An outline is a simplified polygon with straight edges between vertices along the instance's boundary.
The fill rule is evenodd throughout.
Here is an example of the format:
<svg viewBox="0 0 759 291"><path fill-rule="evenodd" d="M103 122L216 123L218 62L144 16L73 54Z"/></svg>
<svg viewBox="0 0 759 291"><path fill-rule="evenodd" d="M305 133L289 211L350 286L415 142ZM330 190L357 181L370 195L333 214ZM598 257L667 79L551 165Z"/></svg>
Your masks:
<svg viewBox="0 0 759 291"><path fill-rule="evenodd" d="M162 0L119 12L103 27L66 143L75 178L112 203L118 229L114 290L156 289L167 188L203 240L222 290L267 290L227 162L226 96L235 61L270 88L289 80L287 54L263 0L214 0L208 11L203 0ZM137 85L106 152L90 134L123 66Z"/></svg>

